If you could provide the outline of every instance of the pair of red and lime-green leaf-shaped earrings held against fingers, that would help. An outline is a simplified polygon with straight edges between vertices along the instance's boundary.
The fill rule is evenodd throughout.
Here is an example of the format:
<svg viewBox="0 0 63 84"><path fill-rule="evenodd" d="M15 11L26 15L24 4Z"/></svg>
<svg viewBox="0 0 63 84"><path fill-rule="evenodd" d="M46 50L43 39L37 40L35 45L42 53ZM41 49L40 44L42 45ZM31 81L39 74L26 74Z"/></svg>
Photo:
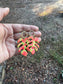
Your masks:
<svg viewBox="0 0 63 84"><path fill-rule="evenodd" d="M28 52L31 52L32 54L35 53L35 51L38 51L39 48L39 39L34 36L34 32L26 32L23 31L21 33L21 38L17 41L17 48L18 51L21 52L22 55L27 56Z"/></svg>

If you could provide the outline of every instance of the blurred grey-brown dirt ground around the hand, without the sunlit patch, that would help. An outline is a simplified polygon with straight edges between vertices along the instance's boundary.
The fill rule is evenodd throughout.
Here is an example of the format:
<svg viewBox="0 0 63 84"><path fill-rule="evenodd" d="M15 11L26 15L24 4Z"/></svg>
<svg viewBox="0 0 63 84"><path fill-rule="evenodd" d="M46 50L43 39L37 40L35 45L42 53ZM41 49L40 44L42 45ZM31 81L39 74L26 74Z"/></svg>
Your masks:
<svg viewBox="0 0 63 84"><path fill-rule="evenodd" d="M7 61L3 84L63 84L60 77L63 70L63 17L61 14L38 17L32 12L33 6L55 1L0 0L2 7L10 8L2 22L36 25L42 32L40 49L35 55L14 56Z"/></svg>

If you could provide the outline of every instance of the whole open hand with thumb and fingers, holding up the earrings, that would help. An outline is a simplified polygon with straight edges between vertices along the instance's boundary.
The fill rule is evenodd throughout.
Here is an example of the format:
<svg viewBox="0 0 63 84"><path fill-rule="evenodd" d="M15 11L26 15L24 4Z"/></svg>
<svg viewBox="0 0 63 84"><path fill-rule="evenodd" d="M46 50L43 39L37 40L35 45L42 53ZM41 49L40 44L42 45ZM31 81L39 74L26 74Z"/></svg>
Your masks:
<svg viewBox="0 0 63 84"><path fill-rule="evenodd" d="M0 21L9 13L9 8L0 8ZM34 25L25 24L3 24L0 23L0 63L11 58L18 53L16 41L21 36L21 31L33 30L36 37L41 41L41 32Z"/></svg>

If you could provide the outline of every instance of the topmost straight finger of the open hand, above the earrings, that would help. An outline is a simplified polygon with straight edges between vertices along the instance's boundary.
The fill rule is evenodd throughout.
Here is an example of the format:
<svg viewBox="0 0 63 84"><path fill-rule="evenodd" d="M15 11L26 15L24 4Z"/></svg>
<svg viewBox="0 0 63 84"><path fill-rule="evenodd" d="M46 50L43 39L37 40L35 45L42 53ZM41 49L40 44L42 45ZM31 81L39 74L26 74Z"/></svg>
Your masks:
<svg viewBox="0 0 63 84"><path fill-rule="evenodd" d="M12 24L14 33L20 33L21 31L38 31L39 28L33 25L25 25L25 24Z"/></svg>

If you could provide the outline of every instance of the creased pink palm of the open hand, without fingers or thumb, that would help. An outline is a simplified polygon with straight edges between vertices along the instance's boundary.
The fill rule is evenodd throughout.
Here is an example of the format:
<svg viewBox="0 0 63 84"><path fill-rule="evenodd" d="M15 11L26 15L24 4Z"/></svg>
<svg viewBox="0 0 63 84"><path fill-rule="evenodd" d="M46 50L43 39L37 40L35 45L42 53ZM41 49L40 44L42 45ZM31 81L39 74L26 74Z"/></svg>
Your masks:
<svg viewBox="0 0 63 84"><path fill-rule="evenodd" d="M0 25L1 42L0 42L0 60L8 59L15 54L15 40L13 38L13 28L10 25ZM4 32L4 33L3 33Z"/></svg>

